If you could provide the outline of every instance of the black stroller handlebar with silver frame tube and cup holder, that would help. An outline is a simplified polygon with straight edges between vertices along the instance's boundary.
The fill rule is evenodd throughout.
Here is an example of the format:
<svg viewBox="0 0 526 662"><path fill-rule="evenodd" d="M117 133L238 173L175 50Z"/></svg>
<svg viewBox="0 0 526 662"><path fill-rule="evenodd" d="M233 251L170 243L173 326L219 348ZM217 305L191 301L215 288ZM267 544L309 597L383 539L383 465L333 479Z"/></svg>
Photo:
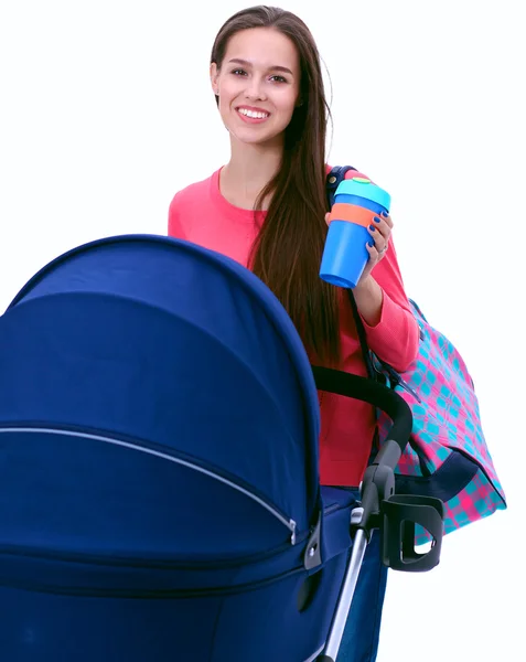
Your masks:
<svg viewBox="0 0 526 662"><path fill-rule="evenodd" d="M443 503L440 499L395 494L395 469L412 426L409 405L389 388L355 375L313 367L316 387L379 406L394 421L389 439L365 471L362 506L352 512L353 549L323 653L316 662L335 662L348 618L365 551L374 530L382 536L383 563L391 569L428 572L440 562ZM415 532L422 526L432 536L427 553L415 549ZM312 546L309 545L308 549Z"/></svg>

